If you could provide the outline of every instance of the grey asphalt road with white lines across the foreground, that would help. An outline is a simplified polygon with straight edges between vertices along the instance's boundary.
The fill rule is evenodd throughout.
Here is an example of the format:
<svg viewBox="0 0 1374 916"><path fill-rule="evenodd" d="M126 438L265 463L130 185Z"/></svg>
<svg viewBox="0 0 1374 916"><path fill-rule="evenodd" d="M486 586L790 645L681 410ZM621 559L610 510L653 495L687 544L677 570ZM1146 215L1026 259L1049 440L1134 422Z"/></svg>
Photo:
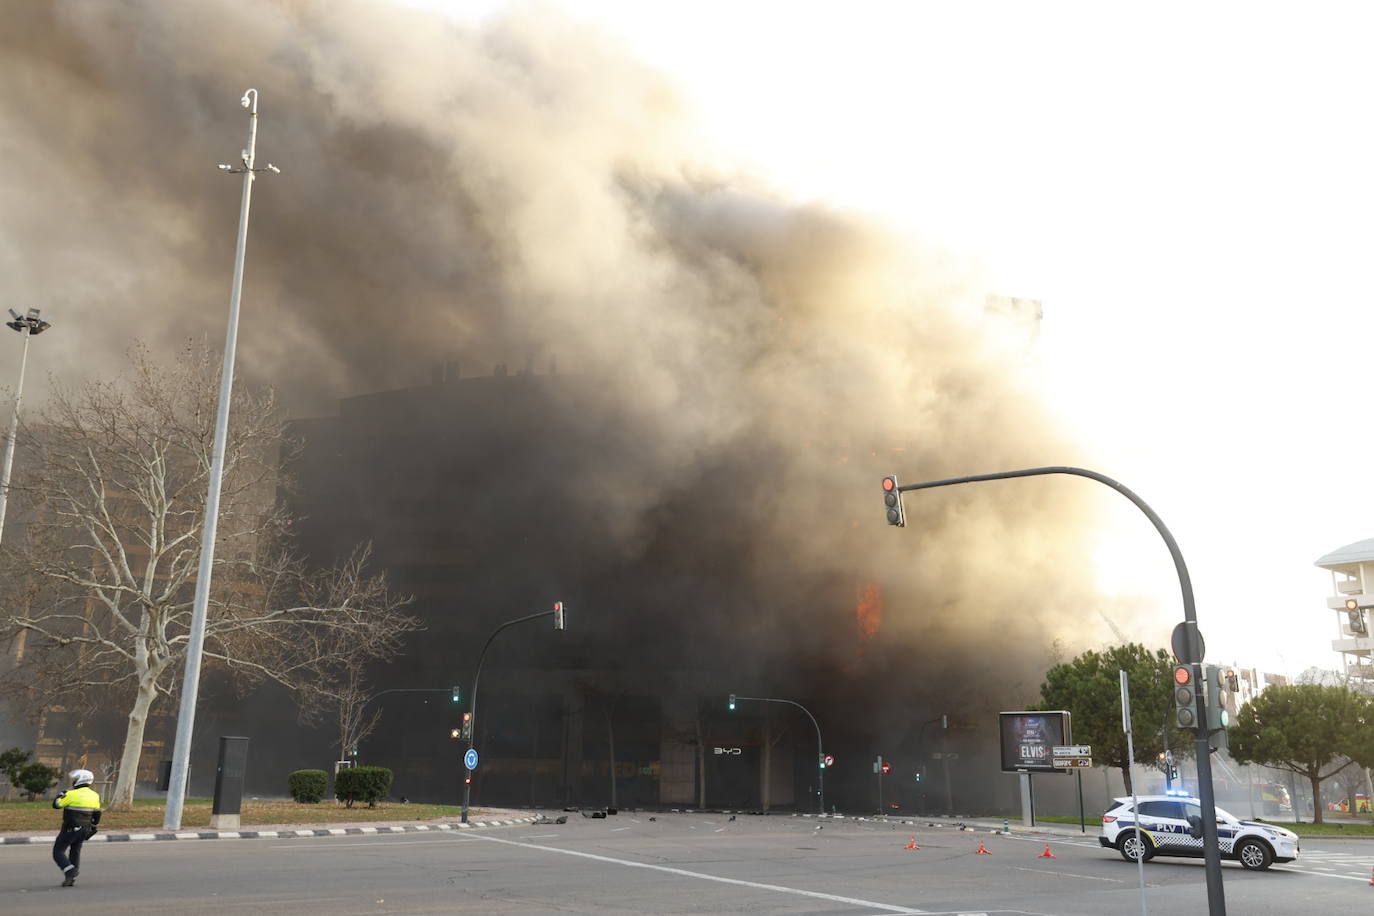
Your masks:
<svg viewBox="0 0 1374 916"><path fill-rule="evenodd" d="M654 817L655 820L650 820ZM1087 838L801 817L621 813L563 825L92 843L76 887L47 846L0 847L8 913L1140 912L1136 867ZM991 856L977 856L982 840ZM1044 843L1055 858L1041 857ZM1223 864L1237 916L1370 912L1374 842L1304 840L1268 872ZM1202 864L1145 867L1151 913L1206 913Z"/></svg>

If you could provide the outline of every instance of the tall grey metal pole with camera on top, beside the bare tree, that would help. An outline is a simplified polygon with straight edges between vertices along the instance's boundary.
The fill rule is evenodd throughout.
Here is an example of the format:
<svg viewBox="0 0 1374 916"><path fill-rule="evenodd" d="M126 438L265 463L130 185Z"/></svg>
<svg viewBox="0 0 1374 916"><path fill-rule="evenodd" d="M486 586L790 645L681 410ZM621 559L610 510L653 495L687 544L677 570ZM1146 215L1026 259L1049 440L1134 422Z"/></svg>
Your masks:
<svg viewBox="0 0 1374 916"><path fill-rule="evenodd" d="M239 235L234 249L234 282L229 290L229 327L224 335L224 365L220 368L220 407L214 416L214 444L210 450L210 479L205 497L205 522L201 526L201 566L195 577L191 606L191 632L185 645L185 673L181 677L181 707L176 720L176 743L172 750L172 780L168 784L165 829L181 829L185 803L187 770L191 765L191 732L195 729L195 700L201 688L201 652L205 647L205 618L210 604L210 573L214 564L214 534L220 522L220 488L224 479L224 449L229 433L229 400L234 394L234 353L239 338L239 301L243 293L243 254L249 243L249 205L253 201L256 172L280 172L271 162L254 168L257 155L258 91L249 89L239 100L249 110L249 144L243 148L242 168L221 165L223 172L243 174L243 199L239 203Z"/></svg>

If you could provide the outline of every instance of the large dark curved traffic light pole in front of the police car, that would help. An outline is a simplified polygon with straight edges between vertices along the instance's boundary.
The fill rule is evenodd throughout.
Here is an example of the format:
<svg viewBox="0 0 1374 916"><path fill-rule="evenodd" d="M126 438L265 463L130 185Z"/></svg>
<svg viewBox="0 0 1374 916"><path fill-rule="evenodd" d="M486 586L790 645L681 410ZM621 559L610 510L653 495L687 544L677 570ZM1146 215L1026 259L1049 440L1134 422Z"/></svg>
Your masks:
<svg viewBox="0 0 1374 916"><path fill-rule="evenodd" d="M1151 509L1145 500L1136 496L1125 485L1113 481L1110 477L1081 467L1032 467L1021 471L952 477L944 481L927 481L925 483L903 483L897 488L897 492L905 493L910 490L929 490L937 486L954 486L956 483L1007 481L1017 477L1043 477L1048 474L1085 477L1090 481L1105 483L1125 499L1131 500L1138 509L1145 512L1145 516L1150 519L1150 523L1154 525L1154 529L1160 533L1160 537L1164 538L1165 545L1169 548L1169 556L1173 558L1173 569L1179 574L1179 588L1183 592L1183 621L1193 637L1193 645L1197 645L1200 640L1197 636L1197 606L1193 602L1193 580L1189 578L1189 567L1183 562L1183 553L1179 551L1178 541L1173 540L1173 534L1171 534L1169 529L1165 527L1164 520L1156 515L1154 509ZM1193 669L1193 683L1201 684L1202 659L1198 655L1194 655L1186 661ZM1206 862L1208 916L1226 916L1226 890L1221 886L1221 853L1217 846L1216 834L1216 797L1212 791L1212 751L1208 742L1206 700L1202 691L1197 691L1194 705L1198 714L1198 728L1194 731L1194 735L1197 736L1198 801L1202 803L1202 853Z"/></svg>

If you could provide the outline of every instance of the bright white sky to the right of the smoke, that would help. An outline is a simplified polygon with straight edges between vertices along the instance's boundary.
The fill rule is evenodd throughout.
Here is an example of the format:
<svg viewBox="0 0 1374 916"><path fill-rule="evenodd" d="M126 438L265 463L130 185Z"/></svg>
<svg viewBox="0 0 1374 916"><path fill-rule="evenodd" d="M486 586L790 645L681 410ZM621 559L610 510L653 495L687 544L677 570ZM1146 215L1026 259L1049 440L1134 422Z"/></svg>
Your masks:
<svg viewBox="0 0 1374 916"><path fill-rule="evenodd" d="M1094 470L1173 531L1209 661L1338 665L1312 562L1374 537L1374 7L550 5L673 74L774 184L877 211L1041 299L1051 398ZM1182 618L1164 544L1121 507L1101 588Z"/></svg>

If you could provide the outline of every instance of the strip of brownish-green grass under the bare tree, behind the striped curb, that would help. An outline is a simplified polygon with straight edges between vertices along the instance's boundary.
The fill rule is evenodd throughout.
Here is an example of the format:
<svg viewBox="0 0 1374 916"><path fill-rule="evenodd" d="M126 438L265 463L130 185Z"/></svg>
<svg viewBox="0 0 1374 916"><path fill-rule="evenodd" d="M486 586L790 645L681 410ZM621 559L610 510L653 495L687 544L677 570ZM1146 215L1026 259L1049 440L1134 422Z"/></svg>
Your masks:
<svg viewBox="0 0 1374 916"><path fill-rule="evenodd" d="M188 798L181 808L183 829L210 825L210 799ZM140 798L131 810L107 810L100 817L100 829L122 832L128 829L162 829L166 803L161 798ZM368 821L426 821L438 817L459 818L463 809L458 805L400 805L378 802L376 808L354 805L344 808L333 801L319 805L298 805L293 801L243 802L240 820L243 827L254 824L365 824ZM469 817L480 816L473 809ZM62 814L52 809L51 801L0 802L0 831L56 832Z"/></svg>

